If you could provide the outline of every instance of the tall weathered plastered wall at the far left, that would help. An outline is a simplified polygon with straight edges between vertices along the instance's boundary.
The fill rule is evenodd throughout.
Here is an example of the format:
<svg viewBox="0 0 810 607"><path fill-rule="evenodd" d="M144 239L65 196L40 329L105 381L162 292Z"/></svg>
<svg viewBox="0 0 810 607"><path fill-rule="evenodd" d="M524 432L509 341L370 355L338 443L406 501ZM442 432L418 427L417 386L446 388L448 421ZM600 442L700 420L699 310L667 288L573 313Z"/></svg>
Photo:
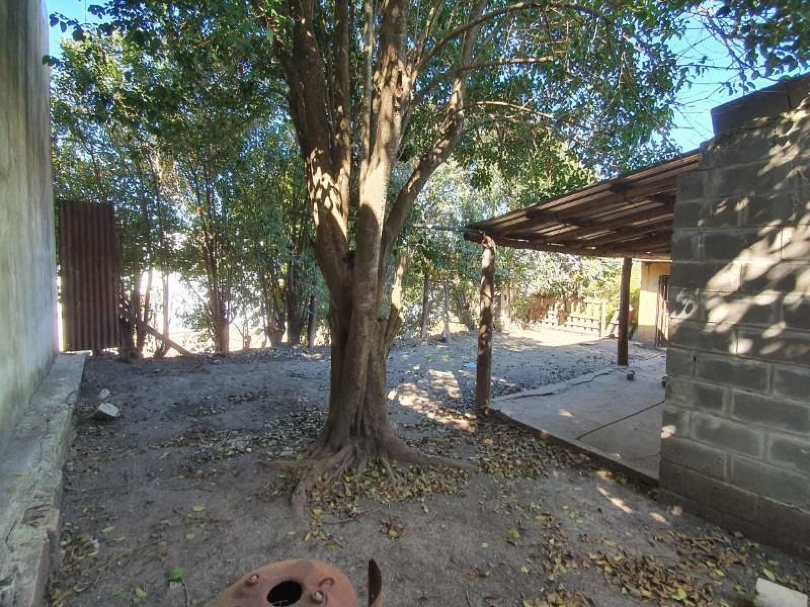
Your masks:
<svg viewBox="0 0 810 607"><path fill-rule="evenodd" d="M0 0L0 451L56 350L47 53L45 6Z"/></svg>

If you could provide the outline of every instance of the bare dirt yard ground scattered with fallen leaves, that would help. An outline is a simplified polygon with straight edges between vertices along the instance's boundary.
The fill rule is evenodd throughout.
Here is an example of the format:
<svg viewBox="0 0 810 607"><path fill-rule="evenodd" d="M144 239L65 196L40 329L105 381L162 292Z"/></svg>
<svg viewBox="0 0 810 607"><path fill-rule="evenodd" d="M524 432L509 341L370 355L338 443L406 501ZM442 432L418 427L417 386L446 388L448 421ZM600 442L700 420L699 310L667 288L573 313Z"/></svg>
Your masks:
<svg viewBox="0 0 810 607"><path fill-rule="evenodd" d="M494 393L609 366L615 342L552 330L497 336ZM650 350L633 347L633 358ZM295 461L325 416L326 349L227 358L89 359L66 465L62 566L50 605L213 605L254 567L318 558L364 605L369 558L386 607L747 605L758 576L810 592L810 565L654 499L586 456L476 422L475 341L399 346L399 435L479 470L369 469L311 496L295 525ZM92 418L100 392L122 418ZM173 581L171 581L173 580Z"/></svg>

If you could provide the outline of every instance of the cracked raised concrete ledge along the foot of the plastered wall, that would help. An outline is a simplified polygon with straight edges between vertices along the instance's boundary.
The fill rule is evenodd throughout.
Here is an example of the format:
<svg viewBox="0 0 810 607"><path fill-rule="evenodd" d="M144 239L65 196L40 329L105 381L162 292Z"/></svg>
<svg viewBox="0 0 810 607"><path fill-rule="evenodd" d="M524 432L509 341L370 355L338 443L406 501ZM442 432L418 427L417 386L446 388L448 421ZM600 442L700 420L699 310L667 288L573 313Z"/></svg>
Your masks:
<svg viewBox="0 0 810 607"><path fill-rule="evenodd" d="M83 354L58 354L0 454L0 607L44 604Z"/></svg>

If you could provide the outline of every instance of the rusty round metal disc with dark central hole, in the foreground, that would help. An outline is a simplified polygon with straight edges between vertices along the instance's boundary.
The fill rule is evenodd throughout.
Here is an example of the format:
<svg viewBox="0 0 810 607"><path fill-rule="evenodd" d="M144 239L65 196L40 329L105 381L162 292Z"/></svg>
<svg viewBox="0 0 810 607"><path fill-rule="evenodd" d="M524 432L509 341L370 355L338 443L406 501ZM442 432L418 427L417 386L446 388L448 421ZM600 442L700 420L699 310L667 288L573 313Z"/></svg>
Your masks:
<svg viewBox="0 0 810 607"><path fill-rule="evenodd" d="M358 607L351 582L321 561L281 561L260 567L229 587L217 607Z"/></svg>

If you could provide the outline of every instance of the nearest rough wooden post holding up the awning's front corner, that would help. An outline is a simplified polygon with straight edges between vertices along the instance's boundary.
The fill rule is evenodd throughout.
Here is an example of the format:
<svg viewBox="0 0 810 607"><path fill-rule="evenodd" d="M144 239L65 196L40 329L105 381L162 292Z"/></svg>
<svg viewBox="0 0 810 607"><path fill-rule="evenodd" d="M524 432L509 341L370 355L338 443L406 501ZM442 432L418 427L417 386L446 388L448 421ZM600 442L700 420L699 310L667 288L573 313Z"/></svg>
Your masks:
<svg viewBox="0 0 810 607"><path fill-rule="evenodd" d="M481 241L481 305L478 320L478 359L475 363L475 410L486 414L492 393L492 295L495 291L495 243Z"/></svg>

